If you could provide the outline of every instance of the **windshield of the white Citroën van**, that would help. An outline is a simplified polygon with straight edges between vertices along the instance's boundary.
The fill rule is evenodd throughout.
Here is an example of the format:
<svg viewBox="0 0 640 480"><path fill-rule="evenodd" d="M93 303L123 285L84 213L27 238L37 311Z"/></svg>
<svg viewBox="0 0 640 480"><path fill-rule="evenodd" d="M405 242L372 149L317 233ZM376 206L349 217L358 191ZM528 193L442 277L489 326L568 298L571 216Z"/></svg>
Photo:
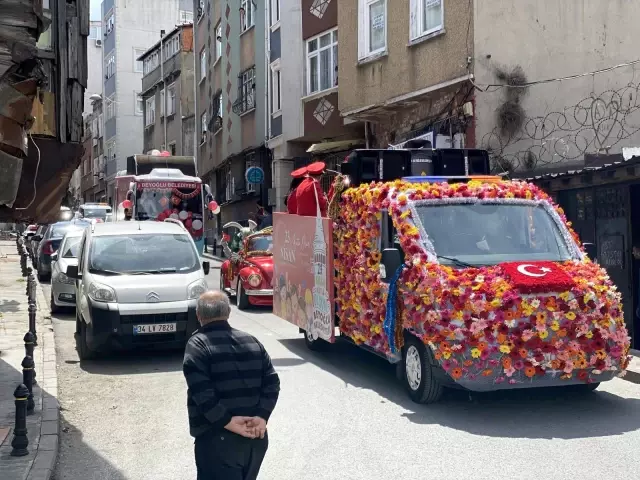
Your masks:
<svg viewBox="0 0 640 480"><path fill-rule="evenodd" d="M89 269L93 273L190 273L200 268L185 234L119 234L94 237Z"/></svg>

